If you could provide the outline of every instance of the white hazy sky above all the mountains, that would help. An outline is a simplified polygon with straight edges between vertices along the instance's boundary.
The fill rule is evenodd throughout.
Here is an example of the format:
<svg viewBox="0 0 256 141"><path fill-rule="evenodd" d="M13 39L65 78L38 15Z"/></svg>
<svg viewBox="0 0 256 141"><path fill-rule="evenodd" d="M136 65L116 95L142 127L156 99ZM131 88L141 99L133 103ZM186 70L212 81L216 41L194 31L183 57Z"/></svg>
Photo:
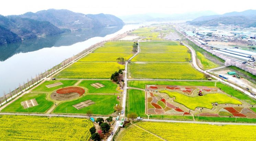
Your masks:
<svg viewBox="0 0 256 141"><path fill-rule="evenodd" d="M211 10L219 14L256 9L256 1L241 0L2 0L1 15L17 15L47 9L68 9L84 14L116 16L143 13L185 13Z"/></svg>

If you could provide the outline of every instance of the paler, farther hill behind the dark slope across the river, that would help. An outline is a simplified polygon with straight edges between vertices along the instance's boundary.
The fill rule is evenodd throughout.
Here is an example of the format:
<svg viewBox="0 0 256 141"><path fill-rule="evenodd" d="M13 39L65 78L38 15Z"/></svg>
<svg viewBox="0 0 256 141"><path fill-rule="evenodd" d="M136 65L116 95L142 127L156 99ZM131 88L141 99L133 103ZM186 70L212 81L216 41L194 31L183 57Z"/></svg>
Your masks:
<svg viewBox="0 0 256 141"><path fill-rule="evenodd" d="M102 13L86 15L65 9L49 9L38 11L36 13L27 12L19 16L38 21L48 21L59 28L68 28L71 30L124 25L124 22L114 15Z"/></svg>

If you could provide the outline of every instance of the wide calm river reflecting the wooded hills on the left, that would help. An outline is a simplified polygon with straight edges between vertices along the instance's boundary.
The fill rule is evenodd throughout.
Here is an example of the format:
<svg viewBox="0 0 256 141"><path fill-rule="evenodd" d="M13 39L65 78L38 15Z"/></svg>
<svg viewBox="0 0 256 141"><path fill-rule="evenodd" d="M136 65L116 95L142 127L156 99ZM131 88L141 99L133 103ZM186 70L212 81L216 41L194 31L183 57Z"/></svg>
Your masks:
<svg viewBox="0 0 256 141"><path fill-rule="evenodd" d="M0 96L91 45L143 24L89 29L0 46Z"/></svg>

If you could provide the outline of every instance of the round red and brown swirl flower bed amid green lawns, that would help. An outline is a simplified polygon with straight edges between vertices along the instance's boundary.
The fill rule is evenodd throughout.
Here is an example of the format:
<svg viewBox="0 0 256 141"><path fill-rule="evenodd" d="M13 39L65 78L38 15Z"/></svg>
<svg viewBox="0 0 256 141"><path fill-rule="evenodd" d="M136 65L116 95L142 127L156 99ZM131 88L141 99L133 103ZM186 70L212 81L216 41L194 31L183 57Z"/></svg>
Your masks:
<svg viewBox="0 0 256 141"><path fill-rule="evenodd" d="M79 87L68 87L59 89L51 94L51 98L54 100L71 100L80 97L85 93L85 90Z"/></svg>

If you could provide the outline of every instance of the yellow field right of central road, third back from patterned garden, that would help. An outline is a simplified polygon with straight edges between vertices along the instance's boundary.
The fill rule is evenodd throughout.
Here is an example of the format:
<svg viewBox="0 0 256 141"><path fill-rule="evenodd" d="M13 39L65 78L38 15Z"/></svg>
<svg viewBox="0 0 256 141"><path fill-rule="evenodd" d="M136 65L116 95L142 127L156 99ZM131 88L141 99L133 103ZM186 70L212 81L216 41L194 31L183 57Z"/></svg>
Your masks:
<svg viewBox="0 0 256 141"><path fill-rule="evenodd" d="M140 42L141 45L141 42ZM152 44L153 45L153 44ZM186 46L140 46L141 52L187 52Z"/></svg>

